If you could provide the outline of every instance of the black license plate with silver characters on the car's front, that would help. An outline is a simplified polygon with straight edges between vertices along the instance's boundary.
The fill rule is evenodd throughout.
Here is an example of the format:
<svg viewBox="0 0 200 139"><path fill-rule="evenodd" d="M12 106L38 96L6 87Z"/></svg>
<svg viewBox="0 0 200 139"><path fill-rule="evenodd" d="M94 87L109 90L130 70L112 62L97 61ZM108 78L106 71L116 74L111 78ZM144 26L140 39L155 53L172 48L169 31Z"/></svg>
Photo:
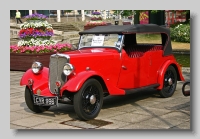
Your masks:
<svg viewBox="0 0 200 139"><path fill-rule="evenodd" d="M57 105L58 98L33 95L33 101L35 105L54 106Z"/></svg>

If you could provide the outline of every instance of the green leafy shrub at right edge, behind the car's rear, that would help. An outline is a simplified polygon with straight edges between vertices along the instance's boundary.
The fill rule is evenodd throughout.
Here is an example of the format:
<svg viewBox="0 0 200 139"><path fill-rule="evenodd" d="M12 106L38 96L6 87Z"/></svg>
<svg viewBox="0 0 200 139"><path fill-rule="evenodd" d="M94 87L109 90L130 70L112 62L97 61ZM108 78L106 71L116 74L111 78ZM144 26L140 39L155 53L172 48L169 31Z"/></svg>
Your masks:
<svg viewBox="0 0 200 139"><path fill-rule="evenodd" d="M170 27L171 40L190 43L190 24L178 24Z"/></svg>

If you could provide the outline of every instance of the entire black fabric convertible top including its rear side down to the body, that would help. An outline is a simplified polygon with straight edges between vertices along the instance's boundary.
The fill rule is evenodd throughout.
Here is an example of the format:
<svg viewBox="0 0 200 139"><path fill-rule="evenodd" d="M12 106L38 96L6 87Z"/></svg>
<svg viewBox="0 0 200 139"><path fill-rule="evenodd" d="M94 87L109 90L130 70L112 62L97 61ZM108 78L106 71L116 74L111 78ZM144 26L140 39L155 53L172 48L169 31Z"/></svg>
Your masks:
<svg viewBox="0 0 200 139"><path fill-rule="evenodd" d="M133 44L136 43L137 33L160 33L162 38L162 45L164 55L172 54L170 29L165 26L159 26L156 24L135 24L135 25L108 25L108 26L97 26L92 29L84 30L79 32L83 34L125 34L125 39ZM132 35L131 35L132 34Z"/></svg>

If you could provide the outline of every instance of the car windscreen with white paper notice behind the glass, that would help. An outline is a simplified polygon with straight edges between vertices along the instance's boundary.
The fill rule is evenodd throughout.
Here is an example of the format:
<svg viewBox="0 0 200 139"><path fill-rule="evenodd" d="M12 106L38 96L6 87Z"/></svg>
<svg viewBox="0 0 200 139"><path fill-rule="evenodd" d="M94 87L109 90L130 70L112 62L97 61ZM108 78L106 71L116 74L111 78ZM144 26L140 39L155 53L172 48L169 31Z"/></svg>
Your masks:
<svg viewBox="0 0 200 139"><path fill-rule="evenodd" d="M82 47L116 47L120 49L123 35L119 34L83 34L79 43Z"/></svg>

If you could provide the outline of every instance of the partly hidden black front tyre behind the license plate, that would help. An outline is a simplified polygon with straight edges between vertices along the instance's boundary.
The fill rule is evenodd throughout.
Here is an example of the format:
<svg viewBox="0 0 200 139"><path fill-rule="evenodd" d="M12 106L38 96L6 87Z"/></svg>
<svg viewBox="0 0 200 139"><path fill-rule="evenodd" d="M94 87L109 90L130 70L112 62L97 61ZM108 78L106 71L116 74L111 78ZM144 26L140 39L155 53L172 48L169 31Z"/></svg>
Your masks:
<svg viewBox="0 0 200 139"><path fill-rule="evenodd" d="M44 111L47 111L50 108L50 106L34 105L33 96L31 94L30 89L27 86L26 86L26 89L25 89L25 102L26 102L26 105L28 106L28 108L35 113L42 113Z"/></svg>

